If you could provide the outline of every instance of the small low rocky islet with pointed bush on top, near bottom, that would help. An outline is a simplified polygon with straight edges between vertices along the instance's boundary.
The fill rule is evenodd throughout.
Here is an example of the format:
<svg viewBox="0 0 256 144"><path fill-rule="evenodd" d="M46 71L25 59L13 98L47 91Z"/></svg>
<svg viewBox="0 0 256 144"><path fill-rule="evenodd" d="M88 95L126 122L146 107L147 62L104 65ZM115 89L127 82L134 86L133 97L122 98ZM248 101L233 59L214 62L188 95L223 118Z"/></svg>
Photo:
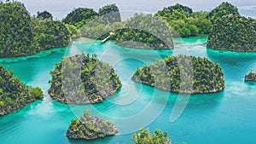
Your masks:
<svg viewBox="0 0 256 144"><path fill-rule="evenodd" d="M112 123L90 116L89 110L84 110L84 116L73 119L69 124L67 137L74 140L95 140L118 132Z"/></svg>

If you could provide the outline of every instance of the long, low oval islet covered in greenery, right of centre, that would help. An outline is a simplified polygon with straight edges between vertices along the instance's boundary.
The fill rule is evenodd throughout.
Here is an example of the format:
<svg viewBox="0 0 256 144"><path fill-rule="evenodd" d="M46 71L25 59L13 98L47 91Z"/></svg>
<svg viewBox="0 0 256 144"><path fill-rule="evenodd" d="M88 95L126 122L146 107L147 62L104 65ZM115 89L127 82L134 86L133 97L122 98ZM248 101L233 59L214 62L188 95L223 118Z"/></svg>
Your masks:
<svg viewBox="0 0 256 144"><path fill-rule="evenodd" d="M195 56L166 56L138 68L132 79L172 92L197 94L224 89L224 73L218 63Z"/></svg>

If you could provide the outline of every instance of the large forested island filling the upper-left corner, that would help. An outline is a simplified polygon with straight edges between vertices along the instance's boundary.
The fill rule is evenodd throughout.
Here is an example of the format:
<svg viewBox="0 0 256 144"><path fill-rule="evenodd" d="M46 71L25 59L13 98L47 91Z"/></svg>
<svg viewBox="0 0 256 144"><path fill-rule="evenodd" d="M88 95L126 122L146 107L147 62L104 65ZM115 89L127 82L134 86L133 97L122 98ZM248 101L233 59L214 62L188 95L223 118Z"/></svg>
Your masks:
<svg viewBox="0 0 256 144"><path fill-rule="evenodd" d="M67 46L70 34L49 12L31 17L22 3L0 3L0 57L32 55L44 49Z"/></svg>

